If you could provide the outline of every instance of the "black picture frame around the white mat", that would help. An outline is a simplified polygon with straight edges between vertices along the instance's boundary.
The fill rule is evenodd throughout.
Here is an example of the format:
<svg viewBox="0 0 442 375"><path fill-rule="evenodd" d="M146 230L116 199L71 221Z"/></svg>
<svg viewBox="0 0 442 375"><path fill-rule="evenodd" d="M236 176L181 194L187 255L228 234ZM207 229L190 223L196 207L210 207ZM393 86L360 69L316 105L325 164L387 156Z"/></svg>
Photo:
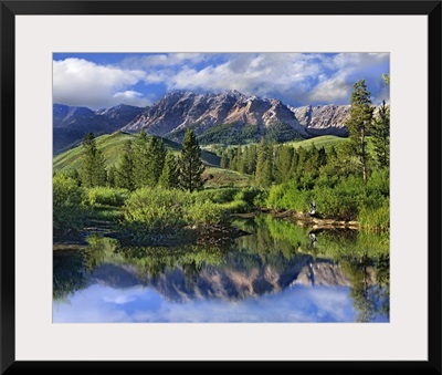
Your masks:
<svg viewBox="0 0 442 375"><path fill-rule="evenodd" d="M1 22L1 373L148 374L441 374L441 1L0 1ZM179 11L178 11L179 10ZM421 14L428 17L429 218L428 361L15 361L14 317L14 24L20 14ZM411 73L413 74L413 73ZM415 73L418 74L418 73ZM8 236L6 236L8 233Z"/></svg>

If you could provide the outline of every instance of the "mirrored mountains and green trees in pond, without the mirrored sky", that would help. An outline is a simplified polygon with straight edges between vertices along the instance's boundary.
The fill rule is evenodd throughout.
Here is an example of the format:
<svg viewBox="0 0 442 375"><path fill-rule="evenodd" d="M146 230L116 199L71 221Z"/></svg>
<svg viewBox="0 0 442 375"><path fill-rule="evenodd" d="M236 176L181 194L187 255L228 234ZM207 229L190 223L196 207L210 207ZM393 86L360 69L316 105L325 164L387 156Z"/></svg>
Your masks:
<svg viewBox="0 0 442 375"><path fill-rule="evenodd" d="M95 240L87 249L54 251L54 300L91 285L145 285L173 302L241 301L287 288L347 287L356 321L389 315L388 237L324 231L312 248L304 228L269 216L239 223L251 232L232 244L123 248ZM302 302L302 301L299 301Z"/></svg>

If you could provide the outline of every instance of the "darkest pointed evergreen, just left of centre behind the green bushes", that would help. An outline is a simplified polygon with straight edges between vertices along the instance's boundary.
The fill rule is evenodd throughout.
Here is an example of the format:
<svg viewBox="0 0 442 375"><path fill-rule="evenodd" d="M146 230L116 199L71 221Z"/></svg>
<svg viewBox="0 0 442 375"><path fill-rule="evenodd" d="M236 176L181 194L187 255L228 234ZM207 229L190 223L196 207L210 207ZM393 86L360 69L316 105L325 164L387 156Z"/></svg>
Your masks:
<svg viewBox="0 0 442 375"><path fill-rule="evenodd" d="M204 184L202 173L204 166L201 162L201 148L191 129L187 129L179 158L179 186L189 191L202 188Z"/></svg>

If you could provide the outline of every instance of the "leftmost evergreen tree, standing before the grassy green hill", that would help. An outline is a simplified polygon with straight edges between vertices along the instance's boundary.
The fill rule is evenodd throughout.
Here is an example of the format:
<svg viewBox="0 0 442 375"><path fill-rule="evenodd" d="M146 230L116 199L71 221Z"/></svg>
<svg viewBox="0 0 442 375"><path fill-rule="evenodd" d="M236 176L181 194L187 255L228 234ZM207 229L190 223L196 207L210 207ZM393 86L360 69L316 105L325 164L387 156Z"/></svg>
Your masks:
<svg viewBox="0 0 442 375"><path fill-rule="evenodd" d="M88 133L83 138L84 155L80 171L84 187L106 185L106 168L103 153L97 148L95 136Z"/></svg>

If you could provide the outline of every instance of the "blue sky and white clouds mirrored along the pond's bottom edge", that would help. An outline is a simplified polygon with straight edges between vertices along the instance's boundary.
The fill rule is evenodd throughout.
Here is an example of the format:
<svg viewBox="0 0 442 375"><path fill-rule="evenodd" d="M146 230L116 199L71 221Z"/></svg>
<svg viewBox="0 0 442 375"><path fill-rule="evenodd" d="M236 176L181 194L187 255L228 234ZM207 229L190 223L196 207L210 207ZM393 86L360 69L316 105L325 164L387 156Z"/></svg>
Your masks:
<svg viewBox="0 0 442 375"><path fill-rule="evenodd" d="M149 288L93 285L54 304L54 322L354 322L347 287L296 287L236 302L173 303Z"/></svg>

